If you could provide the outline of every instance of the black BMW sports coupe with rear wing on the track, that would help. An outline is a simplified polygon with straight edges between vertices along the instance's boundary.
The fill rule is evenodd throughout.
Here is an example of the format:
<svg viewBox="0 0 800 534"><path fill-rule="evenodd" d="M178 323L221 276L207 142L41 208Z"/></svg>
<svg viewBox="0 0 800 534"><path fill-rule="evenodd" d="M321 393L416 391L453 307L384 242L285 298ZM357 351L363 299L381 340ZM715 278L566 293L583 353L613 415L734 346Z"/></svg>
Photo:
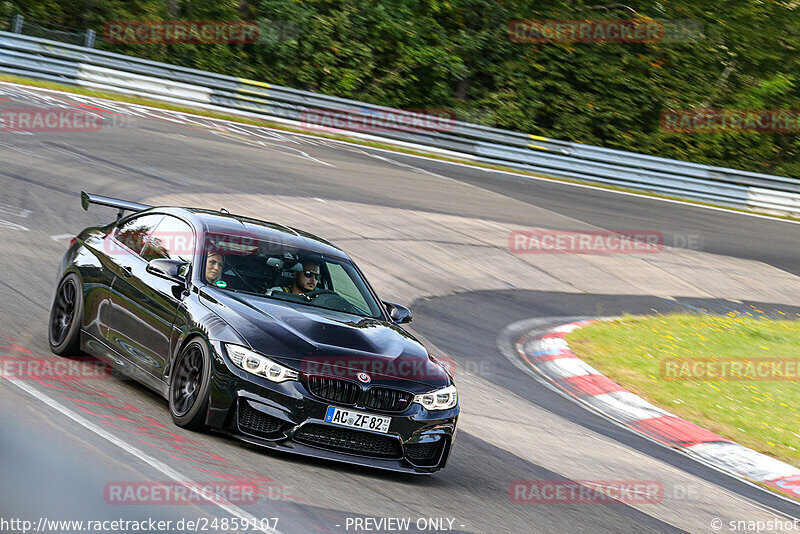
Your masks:
<svg viewBox="0 0 800 534"><path fill-rule="evenodd" d="M53 352L109 362L168 399L178 426L383 469L444 467L453 379L400 327L409 310L378 300L341 249L225 210L81 200L119 214L61 262Z"/></svg>

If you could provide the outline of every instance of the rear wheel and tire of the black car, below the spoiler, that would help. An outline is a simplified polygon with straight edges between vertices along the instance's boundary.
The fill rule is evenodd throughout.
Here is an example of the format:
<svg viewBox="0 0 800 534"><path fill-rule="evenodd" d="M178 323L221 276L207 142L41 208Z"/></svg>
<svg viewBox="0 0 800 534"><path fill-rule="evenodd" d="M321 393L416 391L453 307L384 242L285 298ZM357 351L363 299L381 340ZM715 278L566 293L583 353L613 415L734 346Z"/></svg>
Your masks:
<svg viewBox="0 0 800 534"><path fill-rule="evenodd" d="M59 356L79 354L83 322L83 284L75 273L61 279L50 309L48 341Z"/></svg>

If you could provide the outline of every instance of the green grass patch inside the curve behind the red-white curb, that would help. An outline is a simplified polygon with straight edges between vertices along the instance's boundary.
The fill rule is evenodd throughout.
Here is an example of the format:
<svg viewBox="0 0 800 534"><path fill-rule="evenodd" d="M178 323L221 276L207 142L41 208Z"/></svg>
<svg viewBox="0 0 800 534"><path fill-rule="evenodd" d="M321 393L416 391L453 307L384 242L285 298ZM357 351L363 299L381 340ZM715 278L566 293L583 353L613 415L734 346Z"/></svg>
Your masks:
<svg viewBox="0 0 800 534"><path fill-rule="evenodd" d="M653 404L800 467L800 380L666 379L661 366L665 359L800 359L800 321L788 319L623 316L578 329L567 341L581 359Z"/></svg>

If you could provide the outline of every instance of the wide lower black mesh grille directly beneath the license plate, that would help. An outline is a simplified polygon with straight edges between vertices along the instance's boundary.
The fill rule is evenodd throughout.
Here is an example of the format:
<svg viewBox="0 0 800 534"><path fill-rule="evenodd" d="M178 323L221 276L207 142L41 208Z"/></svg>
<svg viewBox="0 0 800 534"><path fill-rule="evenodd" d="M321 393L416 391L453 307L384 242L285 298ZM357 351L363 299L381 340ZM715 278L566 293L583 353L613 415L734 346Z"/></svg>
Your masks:
<svg viewBox="0 0 800 534"><path fill-rule="evenodd" d="M400 458L400 443L395 438L327 425L303 425L294 440L307 445L377 458Z"/></svg>

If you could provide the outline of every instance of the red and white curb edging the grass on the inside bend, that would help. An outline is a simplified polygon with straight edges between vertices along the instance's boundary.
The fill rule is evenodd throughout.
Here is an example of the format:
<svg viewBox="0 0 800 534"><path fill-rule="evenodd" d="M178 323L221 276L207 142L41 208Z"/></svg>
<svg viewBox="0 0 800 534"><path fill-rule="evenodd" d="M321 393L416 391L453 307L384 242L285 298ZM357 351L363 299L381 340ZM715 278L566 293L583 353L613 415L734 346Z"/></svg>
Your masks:
<svg viewBox="0 0 800 534"><path fill-rule="evenodd" d="M593 321L577 321L515 342L532 369L567 395L631 430L704 463L800 500L800 469L714 434L650 404L578 358L566 335ZM536 331L534 331L536 332Z"/></svg>

